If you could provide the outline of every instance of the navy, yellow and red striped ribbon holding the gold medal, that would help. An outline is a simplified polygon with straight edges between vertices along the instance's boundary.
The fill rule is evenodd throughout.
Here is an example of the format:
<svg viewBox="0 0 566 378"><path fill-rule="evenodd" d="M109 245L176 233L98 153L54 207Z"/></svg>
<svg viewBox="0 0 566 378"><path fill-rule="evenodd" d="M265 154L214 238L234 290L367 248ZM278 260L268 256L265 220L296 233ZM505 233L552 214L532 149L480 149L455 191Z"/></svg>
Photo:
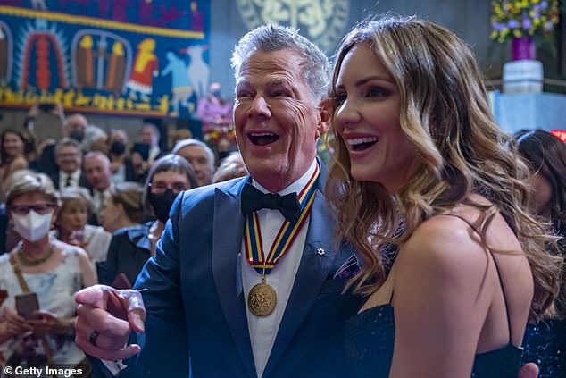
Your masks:
<svg viewBox="0 0 566 378"><path fill-rule="evenodd" d="M293 245L296 235L301 231L308 215L311 213L319 173L319 164L316 164L311 178L298 195L299 204L301 205L301 215L299 219L295 224L291 224L287 219L285 220L277 233L277 237L273 240L270 253L265 261L263 259L262 231L260 230L257 213L254 212L247 215L246 235L244 238L246 258L247 262L252 265L257 273L269 274L271 269L279 261L279 258L285 255L287 250Z"/></svg>

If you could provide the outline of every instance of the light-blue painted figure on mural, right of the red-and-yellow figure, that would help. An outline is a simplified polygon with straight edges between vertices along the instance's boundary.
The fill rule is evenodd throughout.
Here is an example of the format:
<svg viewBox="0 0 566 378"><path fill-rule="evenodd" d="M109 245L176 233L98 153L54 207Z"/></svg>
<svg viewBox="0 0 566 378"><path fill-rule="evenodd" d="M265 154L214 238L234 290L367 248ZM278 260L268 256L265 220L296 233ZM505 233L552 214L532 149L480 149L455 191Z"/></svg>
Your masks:
<svg viewBox="0 0 566 378"><path fill-rule="evenodd" d="M171 73L171 92L173 94L171 115L179 116L179 105L189 109L188 99L193 96L193 85L188 78L187 63L171 50L165 56L168 63L162 71L162 76Z"/></svg>

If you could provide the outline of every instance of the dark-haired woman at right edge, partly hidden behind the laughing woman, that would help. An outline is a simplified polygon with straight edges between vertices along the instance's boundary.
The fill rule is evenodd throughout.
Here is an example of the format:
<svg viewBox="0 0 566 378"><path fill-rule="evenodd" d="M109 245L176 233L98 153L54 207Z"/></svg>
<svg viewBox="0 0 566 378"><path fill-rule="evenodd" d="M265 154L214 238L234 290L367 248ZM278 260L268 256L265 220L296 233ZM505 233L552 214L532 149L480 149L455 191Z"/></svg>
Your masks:
<svg viewBox="0 0 566 378"><path fill-rule="evenodd" d="M566 236L566 145L545 130L520 132L519 153L531 174L531 206L554 230ZM559 242L562 256L566 242ZM562 267L563 269L563 267ZM566 377L566 277L555 301L554 314L536 324L529 324L525 333L526 362L534 361L540 368L539 378Z"/></svg>

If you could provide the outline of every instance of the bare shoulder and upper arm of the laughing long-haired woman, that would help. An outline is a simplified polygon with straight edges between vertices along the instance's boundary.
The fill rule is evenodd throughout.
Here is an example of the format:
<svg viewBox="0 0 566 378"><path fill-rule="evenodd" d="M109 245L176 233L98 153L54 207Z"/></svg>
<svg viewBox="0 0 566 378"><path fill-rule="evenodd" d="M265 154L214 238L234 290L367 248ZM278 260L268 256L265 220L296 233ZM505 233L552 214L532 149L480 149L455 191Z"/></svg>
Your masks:
<svg viewBox="0 0 566 378"><path fill-rule="evenodd" d="M461 223L432 218L399 251L391 378L470 376L493 288L489 254Z"/></svg>

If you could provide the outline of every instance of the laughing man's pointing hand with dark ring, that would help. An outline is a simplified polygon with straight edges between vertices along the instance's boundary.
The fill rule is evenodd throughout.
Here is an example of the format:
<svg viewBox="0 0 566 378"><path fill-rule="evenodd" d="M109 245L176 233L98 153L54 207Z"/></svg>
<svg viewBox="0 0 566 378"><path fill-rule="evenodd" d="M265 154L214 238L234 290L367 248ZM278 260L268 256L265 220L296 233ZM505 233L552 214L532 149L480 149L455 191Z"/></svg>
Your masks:
<svg viewBox="0 0 566 378"><path fill-rule="evenodd" d="M146 308L139 292L95 285L80 290L75 301L79 304L75 341L85 353L117 361L139 352L139 345L127 345L132 331L144 332Z"/></svg>

